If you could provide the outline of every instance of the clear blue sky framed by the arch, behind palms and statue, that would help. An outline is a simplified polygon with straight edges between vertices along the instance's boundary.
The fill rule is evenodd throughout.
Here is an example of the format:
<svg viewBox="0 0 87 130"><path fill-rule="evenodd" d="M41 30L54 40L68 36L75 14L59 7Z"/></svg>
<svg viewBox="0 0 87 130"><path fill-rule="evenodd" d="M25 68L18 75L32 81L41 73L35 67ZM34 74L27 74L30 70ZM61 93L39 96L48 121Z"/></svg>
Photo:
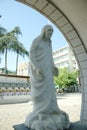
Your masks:
<svg viewBox="0 0 87 130"><path fill-rule="evenodd" d="M20 27L22 36L19 37L19 41L23 43L27 50L30 49L32 40L40 34L42 27L49 23L45 16L15 0L0 0L0 15L2 15L0 26L6 28L8 32L16 26ZM52 36L52 48L54 51L67 45L67 41L56 26L51 22L50 24L54 28ZM0 55L0 57L2 58L1 68L4 67L4 55ZM8 54L8 69L15 70L15 60L16 55L10 52ZM19 64L28 61L27 57L19 57Z"/></svg>

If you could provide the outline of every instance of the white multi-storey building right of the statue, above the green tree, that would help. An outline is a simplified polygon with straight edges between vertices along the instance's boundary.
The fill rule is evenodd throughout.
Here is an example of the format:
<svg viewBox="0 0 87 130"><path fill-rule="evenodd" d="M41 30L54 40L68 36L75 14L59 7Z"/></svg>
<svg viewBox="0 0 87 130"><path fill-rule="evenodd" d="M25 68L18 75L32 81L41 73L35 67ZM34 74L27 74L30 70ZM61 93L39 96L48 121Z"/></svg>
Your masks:
<svg viewBox="0 0 87 130"><path fill-rule="evenodd" d="M58 68L67 67L70 70L78 69L75 56L67 45L53 52L54 63Z"/></svg>

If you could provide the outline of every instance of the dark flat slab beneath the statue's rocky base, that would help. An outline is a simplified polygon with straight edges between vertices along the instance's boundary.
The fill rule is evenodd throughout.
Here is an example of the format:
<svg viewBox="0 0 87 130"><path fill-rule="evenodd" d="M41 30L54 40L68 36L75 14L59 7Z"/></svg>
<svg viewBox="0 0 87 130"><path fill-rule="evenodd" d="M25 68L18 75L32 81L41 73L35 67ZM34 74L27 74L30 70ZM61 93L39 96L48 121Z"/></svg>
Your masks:
<svg viewBox="0 0 87 130"><path fill-rule="evenodd" d="M31 130L25 127L24 124L18 124L13 126L14 130ZM71 123L70 128L67 130L87 130L87 126L83 126L79 123Z"/></svg>

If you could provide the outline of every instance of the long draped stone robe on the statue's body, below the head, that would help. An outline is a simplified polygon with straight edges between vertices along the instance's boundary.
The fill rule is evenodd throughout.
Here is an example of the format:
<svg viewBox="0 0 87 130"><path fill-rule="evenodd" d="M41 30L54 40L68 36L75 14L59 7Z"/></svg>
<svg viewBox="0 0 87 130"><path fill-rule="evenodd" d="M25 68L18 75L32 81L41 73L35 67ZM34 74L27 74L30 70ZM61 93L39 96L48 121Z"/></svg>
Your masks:
<svg viewBox="0 0 87 130"><path fill-rule="evenodd" d="M34 41L30 50L31 95L35 112L51 113L58 110L54 89L54 62L50 41ZM37 73L39 68L41 73Z"/></svg>

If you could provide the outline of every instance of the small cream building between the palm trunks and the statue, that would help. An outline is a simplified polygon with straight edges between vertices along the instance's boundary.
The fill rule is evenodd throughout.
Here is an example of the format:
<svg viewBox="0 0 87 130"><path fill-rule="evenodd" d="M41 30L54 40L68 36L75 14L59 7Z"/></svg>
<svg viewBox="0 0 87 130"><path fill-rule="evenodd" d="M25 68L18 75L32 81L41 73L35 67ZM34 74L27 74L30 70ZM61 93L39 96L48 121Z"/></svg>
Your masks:
<svg viewBox="0 0 87 130"><path fill-rule="evenodd" d="M29 76L29 62L22 62L18 65L17 75Z"/></svg>

